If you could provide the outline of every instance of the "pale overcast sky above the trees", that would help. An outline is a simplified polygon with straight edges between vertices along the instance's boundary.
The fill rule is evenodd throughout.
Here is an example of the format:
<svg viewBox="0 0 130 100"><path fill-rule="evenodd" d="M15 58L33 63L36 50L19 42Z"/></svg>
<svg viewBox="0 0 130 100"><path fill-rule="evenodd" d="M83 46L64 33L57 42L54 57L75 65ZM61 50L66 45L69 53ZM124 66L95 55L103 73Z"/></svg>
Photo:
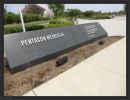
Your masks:
<svg viewBox="0 0 130 100"><path fill-rule="evenodd" d="M5 4L7 11L18 13L18 7L16 4ZM21 8L25 7L25 4L20 4ZM124 4L65 4L65 9L77 8L81 11L94 10L102 12L113 12L123 10Z"/></svg>

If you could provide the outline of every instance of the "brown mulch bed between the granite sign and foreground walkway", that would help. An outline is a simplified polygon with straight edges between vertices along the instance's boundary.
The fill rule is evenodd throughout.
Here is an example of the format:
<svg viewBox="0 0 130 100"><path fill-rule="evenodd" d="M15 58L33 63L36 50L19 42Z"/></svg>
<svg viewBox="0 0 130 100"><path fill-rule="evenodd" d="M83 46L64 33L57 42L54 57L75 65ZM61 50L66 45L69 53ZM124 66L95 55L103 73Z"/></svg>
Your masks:
<svg viewBox="0 0 130 100"><path fill-rule="evenodd" d="M102 39L105 41L103 45L99 45L98 40L16 74L11 74L8 66L4 66L4 96L21 96L31 89L74 67L81 61L121 38L123 38L123 36L105 37ZM56 67L57 59L63 56L68 56L68 62L60 67Z"/></svg>

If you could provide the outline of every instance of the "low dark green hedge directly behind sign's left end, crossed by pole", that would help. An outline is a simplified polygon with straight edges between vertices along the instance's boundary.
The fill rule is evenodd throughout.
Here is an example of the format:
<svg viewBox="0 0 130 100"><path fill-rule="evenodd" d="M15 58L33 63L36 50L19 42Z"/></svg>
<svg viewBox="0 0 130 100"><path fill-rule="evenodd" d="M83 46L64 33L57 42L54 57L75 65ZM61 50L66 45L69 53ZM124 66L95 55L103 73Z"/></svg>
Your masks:
<svg viewBox="0 0 130 100"><path fill-rule="evenodd" d="M44 29L45 27L43 25L25 25L26 31L32 31L32 30L39 30ZM10 34L10 33L17 33L22 32L22 26L21 25L13 25L13 26L4 26L4 34Z"/></svg>

